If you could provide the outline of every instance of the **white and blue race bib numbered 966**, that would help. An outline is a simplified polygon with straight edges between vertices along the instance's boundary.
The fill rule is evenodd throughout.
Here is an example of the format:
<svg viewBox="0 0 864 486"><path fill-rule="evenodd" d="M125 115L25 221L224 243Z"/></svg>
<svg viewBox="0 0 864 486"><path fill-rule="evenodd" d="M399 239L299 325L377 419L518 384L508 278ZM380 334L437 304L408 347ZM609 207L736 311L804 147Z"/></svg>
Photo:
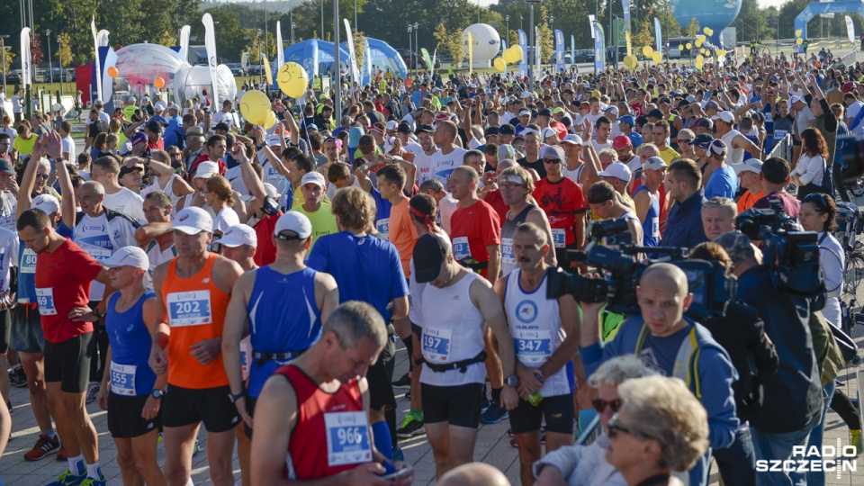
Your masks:
<svg viewBox="0 0 864 486"><path fill-rule="evenodd" d="M327 428L327 462L330 467L372 461L365 411L325 413L324 427Z"/></svg>

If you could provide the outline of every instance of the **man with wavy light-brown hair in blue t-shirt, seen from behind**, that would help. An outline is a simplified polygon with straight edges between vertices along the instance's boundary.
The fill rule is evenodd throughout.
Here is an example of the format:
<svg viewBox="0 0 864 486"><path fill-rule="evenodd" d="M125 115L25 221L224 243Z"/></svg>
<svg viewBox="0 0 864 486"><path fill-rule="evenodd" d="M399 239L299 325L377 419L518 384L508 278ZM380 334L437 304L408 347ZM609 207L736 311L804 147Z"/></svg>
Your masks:
<svg viewBox="0 0 864 486"><path fill-rule="evenodd" d="M385 322L408 316L408 281L399 251L391 242L367 232L375 222L372 197L359 187L347 187L333 198L332 211L339 232L315 242L307 265L333 275L339 287L339 303L368 302L381 312ZM395 447L396 398L391 385L395 351L393 340L388 339L378 361L366 374L375 448L390 458L391 453L401 454Z"/></svg>

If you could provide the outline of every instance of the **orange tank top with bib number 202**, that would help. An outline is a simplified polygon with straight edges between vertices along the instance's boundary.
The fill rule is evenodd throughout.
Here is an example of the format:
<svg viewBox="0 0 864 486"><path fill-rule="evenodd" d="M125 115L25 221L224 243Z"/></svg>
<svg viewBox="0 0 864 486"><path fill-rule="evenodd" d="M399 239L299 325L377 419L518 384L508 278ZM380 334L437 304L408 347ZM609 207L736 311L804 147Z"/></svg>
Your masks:
<svg viewBox="0 0 864 486"><path fill-rule="evenodd" d="M162 284L162 303L168 315L171 338L168 341L168 383L194 390L228 384L221 353L209 364L198 363L189 352L191 346L211 338L220 338L225 324L230 295L213 282L211 253L204 267L189 278L177 276L177 259L168 264Z"/></svg>

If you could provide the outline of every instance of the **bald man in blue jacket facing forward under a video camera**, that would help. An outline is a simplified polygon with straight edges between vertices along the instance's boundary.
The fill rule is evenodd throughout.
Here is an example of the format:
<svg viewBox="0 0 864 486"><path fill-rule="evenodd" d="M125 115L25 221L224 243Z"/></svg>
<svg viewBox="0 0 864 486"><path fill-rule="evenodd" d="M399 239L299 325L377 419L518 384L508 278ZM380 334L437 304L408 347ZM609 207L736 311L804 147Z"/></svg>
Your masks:
<svg viewBox="0 0 864 486"><path fill-rule="evenodd" d="M599 312L603 302L581 302L580 356L585 375L615 356L640 356L645 365L664 376L687 383L708 412L711 447L724 449L734 442L740 423L735 415L732 383L738 373L726 351L710 331L684 315L693 302L687 275L677 266L649 266L636 287L640 314L621 323L605 346L600 339ZM707 485L711 457L704 455L689 471L689 483Z"/></svg>

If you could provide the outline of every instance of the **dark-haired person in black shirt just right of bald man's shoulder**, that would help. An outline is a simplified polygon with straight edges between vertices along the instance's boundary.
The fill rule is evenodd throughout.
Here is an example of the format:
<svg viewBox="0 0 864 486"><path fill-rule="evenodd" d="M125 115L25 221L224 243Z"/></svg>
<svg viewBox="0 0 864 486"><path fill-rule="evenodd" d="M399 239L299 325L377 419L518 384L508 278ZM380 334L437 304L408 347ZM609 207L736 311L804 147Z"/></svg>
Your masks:
<svg viewBox="0 0 864 486"><path fill-rule="evenodd" d="M721 198L712 199L708 203L719 199ZM703 217L706 208L707 205L702 209ZM690 251L689 257L718 261L725 268L732 268L732 260L725 249L713 241L700 243ZM759 412L762 401L760 380L777 371L779 357L774 345L765 336L759 313L742 302L729 302L724 317L711 316L701 323L729 353L732 365L738 372L738 381L733 383L732 391L735 394L735 412L741 420L741 427L735 432L732 446L714 451L717 469L720 470L725 484L755 485L756 456L753 453L747 421Z"/></svg>

